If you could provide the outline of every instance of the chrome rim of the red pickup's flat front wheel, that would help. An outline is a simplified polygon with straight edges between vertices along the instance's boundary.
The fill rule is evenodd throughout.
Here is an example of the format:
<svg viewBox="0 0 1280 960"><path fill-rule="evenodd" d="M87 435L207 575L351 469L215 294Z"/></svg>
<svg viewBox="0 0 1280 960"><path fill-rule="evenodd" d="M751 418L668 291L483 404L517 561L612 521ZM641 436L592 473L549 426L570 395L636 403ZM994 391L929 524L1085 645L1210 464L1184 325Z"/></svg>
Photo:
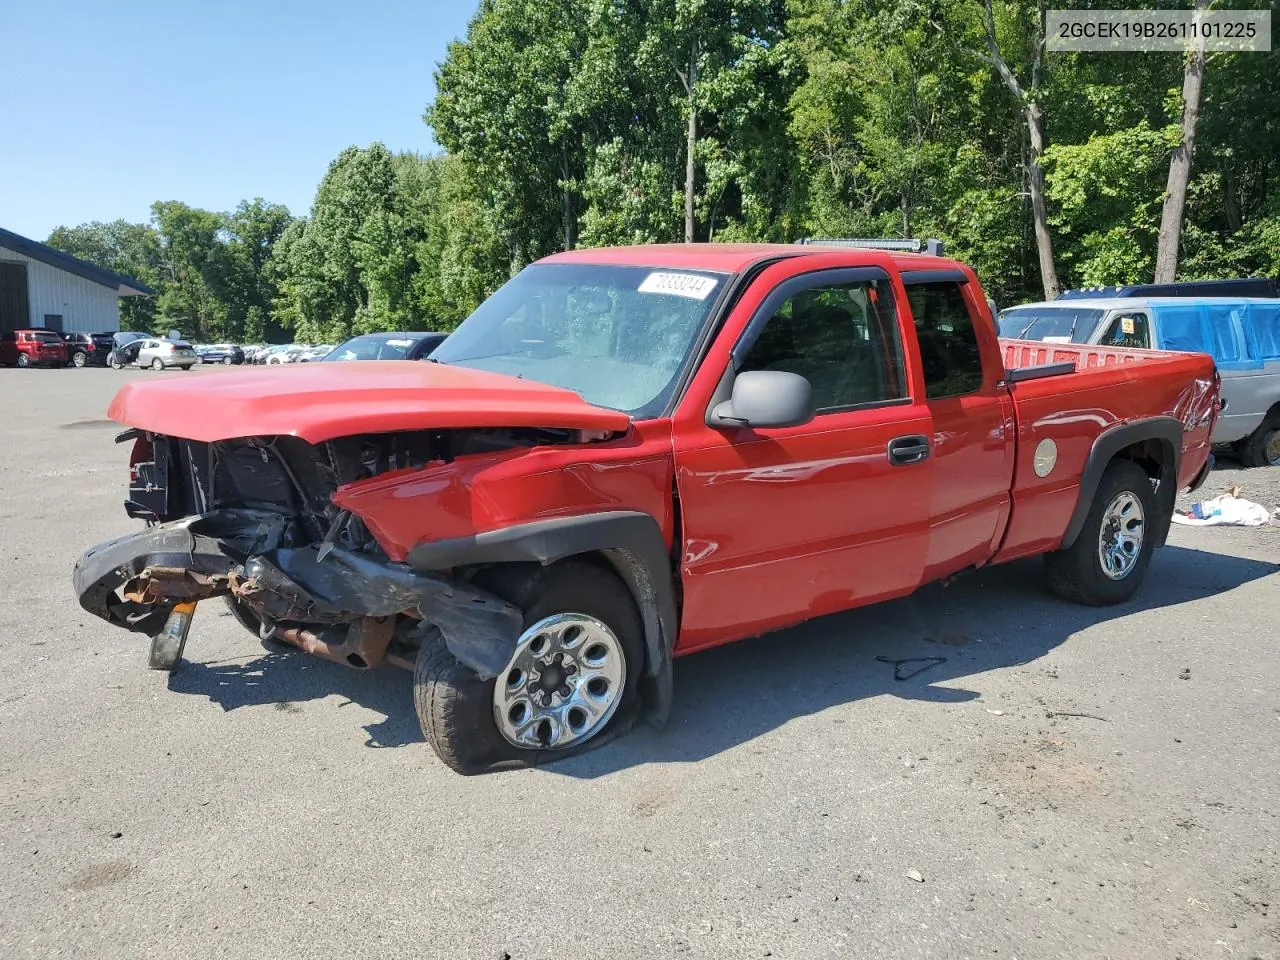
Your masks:
<svg viewBox="0 0 1280 960"><path fill-rule="evenodd" d="M564 750L604 730L626 678L622 644L603 621L557 613L520 635L494 680L494 721L513 746Z"/></svg>

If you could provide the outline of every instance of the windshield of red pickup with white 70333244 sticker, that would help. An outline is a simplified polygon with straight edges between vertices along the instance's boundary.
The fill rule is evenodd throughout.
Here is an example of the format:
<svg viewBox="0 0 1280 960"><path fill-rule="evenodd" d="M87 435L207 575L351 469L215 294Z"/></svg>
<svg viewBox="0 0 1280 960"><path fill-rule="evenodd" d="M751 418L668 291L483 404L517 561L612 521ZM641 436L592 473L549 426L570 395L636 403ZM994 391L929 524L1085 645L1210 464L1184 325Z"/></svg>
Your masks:
<svg viewBox="0 0 1280 960"><path fill-rule="evenodd" d="M694 270L535 264L481 303L431 360L658 416L724 280Z"/></svg>

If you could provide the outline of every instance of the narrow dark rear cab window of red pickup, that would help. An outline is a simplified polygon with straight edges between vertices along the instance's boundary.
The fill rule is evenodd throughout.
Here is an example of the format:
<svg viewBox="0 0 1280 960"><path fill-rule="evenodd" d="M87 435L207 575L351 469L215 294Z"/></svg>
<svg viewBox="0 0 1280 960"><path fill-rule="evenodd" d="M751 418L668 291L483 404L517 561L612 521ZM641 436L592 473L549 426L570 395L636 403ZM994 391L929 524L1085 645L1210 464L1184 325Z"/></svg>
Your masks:
<svg viewBox="0 0 1280 960"><path fill-rule="evenodd" d="M925 396L938 399L982 389L982 352L960 284L954 280L909 284L906 300L920 343Z"/></svg>

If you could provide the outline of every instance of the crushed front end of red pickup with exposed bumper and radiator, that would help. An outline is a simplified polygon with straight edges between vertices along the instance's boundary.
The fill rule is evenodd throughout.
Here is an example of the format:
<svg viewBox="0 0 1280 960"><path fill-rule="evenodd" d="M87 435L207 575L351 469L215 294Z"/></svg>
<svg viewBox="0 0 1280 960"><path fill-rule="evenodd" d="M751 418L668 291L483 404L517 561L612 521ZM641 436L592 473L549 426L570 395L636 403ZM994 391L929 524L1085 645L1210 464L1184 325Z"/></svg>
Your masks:
<svg viewBox="0 0 1280 960"><path fill-rule="evenodd" d="M559 433L570 434L424 431L310 444L293 436L202 443L128 430L118 438L134 444L125 509L147 527L87 550L76 564L76 594L96 617L152 637L163 637L166 625L172 632L174 611L225 596L262 639L358 669L387 660L411 666L438 631L458 660L488 678L511 654L521 611L474 586L465 570L390 561L332 497L390 470L538 445Z"/></svg>

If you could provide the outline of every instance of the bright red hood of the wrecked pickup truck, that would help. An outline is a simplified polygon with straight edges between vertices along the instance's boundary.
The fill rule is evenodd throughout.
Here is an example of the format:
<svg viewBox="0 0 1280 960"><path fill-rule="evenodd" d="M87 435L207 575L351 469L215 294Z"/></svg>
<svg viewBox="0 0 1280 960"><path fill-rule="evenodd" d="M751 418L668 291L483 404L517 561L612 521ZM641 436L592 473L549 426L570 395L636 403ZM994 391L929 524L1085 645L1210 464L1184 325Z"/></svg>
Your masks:
<svg viewBox="0 0 1280 960"><path fill-rule="evenodd" d="M131 383L106 415L188 440L337 436L451 426L623 430L626 413L503 374L413 360L297 364Z"/></svg>

